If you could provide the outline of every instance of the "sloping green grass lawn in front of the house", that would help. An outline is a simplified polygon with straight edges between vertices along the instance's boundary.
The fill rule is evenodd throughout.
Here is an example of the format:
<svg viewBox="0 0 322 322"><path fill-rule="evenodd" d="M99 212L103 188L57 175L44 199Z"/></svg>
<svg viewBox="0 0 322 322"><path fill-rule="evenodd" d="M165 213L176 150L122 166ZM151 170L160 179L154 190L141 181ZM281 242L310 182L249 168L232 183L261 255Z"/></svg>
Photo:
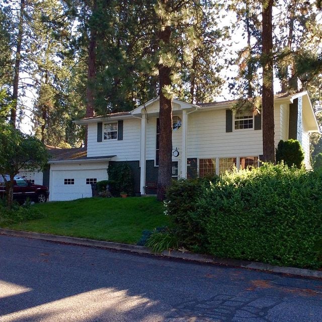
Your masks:
<svg viewBox="0 0 322 322"><path fill-rule="evenodd" d="M155 197L85 198L32 207L46 217L4 228L136 244L144 229L170 221Z"/></svg>

